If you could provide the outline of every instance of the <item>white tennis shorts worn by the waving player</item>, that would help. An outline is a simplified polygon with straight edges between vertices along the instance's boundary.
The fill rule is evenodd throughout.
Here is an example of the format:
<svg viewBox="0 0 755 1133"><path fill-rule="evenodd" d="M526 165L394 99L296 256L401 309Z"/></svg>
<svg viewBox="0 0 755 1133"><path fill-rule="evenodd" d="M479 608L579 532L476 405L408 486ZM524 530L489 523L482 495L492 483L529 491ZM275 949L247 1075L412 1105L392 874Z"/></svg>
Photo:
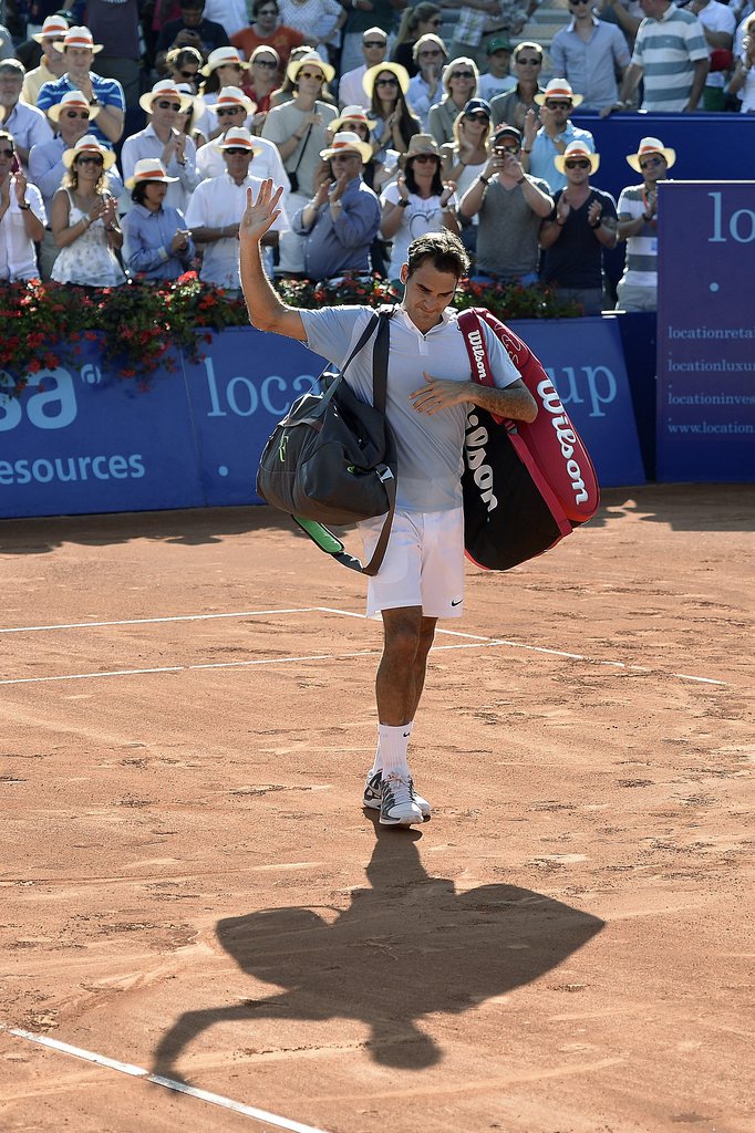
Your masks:
<svg viewBox="0 0 755 1133"><path fill-rule="evenodd" d="M383 517L359 523L364 553L372 555ZM367 580L367 617L381 610L422 606L425 617L464 613L464 511L399 511L382 565Z"/></svg>

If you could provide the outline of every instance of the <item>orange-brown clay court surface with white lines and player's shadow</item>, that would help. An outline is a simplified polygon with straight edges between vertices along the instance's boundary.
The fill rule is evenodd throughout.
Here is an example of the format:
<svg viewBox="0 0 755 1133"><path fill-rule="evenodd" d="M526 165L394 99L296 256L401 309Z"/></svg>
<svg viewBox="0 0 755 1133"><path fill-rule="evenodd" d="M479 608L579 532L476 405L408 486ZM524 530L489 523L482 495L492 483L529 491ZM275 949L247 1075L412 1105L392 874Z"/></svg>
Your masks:
<svg viewBox="0 0 755 1133"><path fill-rule="evenodd" d="M470 568L412 832L363 582L285 519L0 523L3 1133L755 1130L754 509Z"/></svg>

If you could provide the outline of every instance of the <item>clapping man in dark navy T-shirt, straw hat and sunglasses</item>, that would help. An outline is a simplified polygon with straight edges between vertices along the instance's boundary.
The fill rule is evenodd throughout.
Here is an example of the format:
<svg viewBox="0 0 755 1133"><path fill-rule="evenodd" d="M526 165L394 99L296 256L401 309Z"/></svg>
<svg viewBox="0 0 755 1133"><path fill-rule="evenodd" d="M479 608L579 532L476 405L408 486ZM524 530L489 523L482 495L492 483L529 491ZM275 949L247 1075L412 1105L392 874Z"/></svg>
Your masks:
<svg viewBox="0 0 755 1133"><path fill-rule="evenodd" d="M600 156L584 142L570 142L555 168L567 187L557 189L554 207L540 230L545 248L542 276L559 299L578 303L585 315L600 315L603 300L603 248L616 247L616 202L589 184Z"/></svg>

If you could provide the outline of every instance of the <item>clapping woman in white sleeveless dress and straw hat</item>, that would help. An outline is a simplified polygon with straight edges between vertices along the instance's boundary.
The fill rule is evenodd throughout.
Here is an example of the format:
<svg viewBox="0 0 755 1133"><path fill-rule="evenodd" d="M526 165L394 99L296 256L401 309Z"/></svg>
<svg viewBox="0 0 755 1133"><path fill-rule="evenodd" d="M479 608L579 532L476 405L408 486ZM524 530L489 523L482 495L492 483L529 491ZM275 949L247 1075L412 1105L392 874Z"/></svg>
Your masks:
<svg viewBox="0 0 755 1133"><path fill-rule="evenodd" d="M67 173L52 198L50 227L60 254L50 278L79 287L119 287L126 282L114 249L124 235L118 227L116 198L105 189L105 171L116 161L92 134L66 150Z"/></svg>

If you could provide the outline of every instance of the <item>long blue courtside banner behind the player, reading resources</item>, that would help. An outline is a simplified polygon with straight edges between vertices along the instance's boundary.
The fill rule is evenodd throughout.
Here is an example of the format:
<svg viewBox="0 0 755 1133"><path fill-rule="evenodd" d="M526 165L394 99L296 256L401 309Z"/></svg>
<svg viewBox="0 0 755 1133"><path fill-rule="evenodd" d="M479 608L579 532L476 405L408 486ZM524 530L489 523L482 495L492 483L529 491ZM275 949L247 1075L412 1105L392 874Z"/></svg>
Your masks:
<svg viewBox="0 0 755 1133"><path fill-rule="evenodd" d="M614 318L512 324L545 365L604 486L644 482ZM69 369L2 394L0 517L258 503L260 453L325 363L253 327L223 331L206 357L180 358L145 392L99 367L88 343Z"/></svg>

